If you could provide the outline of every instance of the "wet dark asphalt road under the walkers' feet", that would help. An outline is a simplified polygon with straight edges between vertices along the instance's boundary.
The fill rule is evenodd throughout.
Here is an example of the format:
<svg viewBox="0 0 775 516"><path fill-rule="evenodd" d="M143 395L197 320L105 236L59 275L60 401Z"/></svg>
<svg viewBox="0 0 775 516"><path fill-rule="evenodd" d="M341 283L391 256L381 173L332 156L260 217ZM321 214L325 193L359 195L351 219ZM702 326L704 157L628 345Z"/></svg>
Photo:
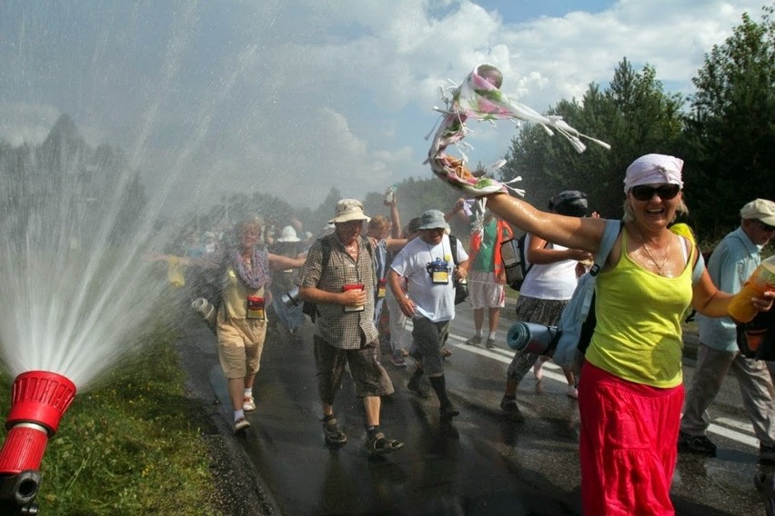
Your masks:
<svg viewBox="0 0 775 516"><path fill-rule="evenodd" d="M381 426L406 447L377 460L367 457L362 406L348 381L335 407L349 442L337 450L325 445L311 325L297 341L270 336L254 388L257 411L249 413L252 426L240 436L230 432L215 337L186 317L180 347L199 381L198 395L233 444L238 467L247 470L248 480L239 481L247 485L236 495L260 499L260 511L253 513L579 514L578 406L566 395L562 372L549 362L541 382L528 376L520 385L526 422L510 422L498 408L512 356L504 343L511 323L511 311L504 310L497 349L468 346L471 313L465 304L458 307L446 364L448 390L461 412L452 424L438 421L435 397L422 400L407 391L411 366L397 368L385 355L396 393L383 402ZM687 382L692 372L687 359ZM758 442L733 378L712 409L710 437L719 445L718 457L679 456L672 487L677 513L764 514L752 479L772 467L758 463Z"/></svg>

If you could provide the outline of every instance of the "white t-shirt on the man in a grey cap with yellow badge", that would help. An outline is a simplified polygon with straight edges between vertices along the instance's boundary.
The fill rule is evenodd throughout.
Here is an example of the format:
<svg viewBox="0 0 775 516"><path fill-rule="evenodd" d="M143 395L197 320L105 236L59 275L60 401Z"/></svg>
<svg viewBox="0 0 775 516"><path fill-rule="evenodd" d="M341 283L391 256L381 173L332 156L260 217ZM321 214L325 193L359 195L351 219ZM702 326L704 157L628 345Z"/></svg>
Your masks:
<svg viewBox="0 0 775 516"><path fill-rule="evenodd" d="M448 282L433 283L428 273L428 263L437 258L447 263ZM468 260L468 253L458 239L458 263ZM390 268L407 277L408 295L415 303L415 315L422 315L434 323L451 321L455 317L455 289L452 271L452 251L448 235L441 243L431 245L422 237L409 242L390 263Z"/></svg>

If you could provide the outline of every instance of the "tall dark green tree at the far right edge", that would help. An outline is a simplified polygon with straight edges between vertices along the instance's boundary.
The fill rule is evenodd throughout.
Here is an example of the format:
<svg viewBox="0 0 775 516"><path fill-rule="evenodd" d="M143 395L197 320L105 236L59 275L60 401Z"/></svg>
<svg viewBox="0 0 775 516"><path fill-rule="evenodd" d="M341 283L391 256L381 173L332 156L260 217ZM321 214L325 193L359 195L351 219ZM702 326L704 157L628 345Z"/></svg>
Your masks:
<svg viewBox="0 0 775 516"><path fill-rule="evenodd" d="M697 92L686 121L684 175L691 222L706 239L735 227L744 203L775 198L773 9L762 9L760 23L742 15L692 79Z"/></svg>

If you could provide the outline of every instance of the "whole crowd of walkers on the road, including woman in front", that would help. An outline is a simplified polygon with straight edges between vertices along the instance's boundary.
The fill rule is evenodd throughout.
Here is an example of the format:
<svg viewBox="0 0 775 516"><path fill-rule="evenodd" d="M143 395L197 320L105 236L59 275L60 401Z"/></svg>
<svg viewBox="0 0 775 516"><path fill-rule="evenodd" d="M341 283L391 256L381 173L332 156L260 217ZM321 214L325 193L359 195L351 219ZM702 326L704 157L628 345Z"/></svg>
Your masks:
<svg viewBox="0 0 775 516"><path fill-rule="evenodd" d="M734 294L775 234L775 203L757 199L743 206L740 228L710 255L706 270L694 239L670 230L688 212L682 164L673 156L648 154L627 169L621 230L597 281L597 326L580 374L566 371L568 394L579 400L586 514L673 513L669 488L677 453L715 453L705 436L705 411L730 369L760 438L761 457L775 460L772 379L759 361L737 351L729 317ZM380 422L381 397L394 392L383 352L396 367L413 362L408 390L421 397L433 392L438 421L448 424L459 413L444 374L449 323L463 288L458 285L468 280L474 309L475 334L468 345L495 346L506 283L500 245L516 231L527 233L527 256L534 266L522 285L518 318L556 324L606 225L596 213L587 216L586 196L576 191L558 193L547 210L507 193L490 193L485 202L460 199L448 213L427 210L407 227L400 225L397 198L391 197L386 200L390 220L370 217L359 201L342 199L332 207L334 216L320 238L304 235L295 223L266 234L262 221L252 218L238 223L230 238L206 238L201 253L175 258L211 285L197 292L216 305L218 356L234 405L235 432L249 426L245 412L255 409L252 386L269 312L291 335L304 321L302 311L315 324L320 423L327 445L347 443L335 398L348 372L363 401L367 452L385 454L404 446L397 436L388 437ZM449 234L456 216L470 223L466 244ZM294 303L279 299L295 286ZM746 303L768 312L773 297L759 294ZM685 401L681 325L689 305L699 314L701 344ZM517 352L508 366L500 407L514 422L524 419L518 383L531 368L540 378L548 358Z"/></svg>

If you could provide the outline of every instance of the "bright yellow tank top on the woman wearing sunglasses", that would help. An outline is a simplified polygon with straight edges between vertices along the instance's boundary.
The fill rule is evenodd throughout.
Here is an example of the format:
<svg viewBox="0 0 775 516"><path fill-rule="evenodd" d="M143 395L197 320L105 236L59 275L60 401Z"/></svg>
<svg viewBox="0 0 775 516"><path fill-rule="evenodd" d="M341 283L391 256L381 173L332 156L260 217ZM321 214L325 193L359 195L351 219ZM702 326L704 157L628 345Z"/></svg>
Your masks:
<svg viewBox="0 0 775 516"><path fill-rule="evenodd" d="M675 387L683 381L680 322L691 302L694 247L683 272L663 278L629 258L621 234L619 263L598 276L598 323L586 358L629 382Z"/></svg>

